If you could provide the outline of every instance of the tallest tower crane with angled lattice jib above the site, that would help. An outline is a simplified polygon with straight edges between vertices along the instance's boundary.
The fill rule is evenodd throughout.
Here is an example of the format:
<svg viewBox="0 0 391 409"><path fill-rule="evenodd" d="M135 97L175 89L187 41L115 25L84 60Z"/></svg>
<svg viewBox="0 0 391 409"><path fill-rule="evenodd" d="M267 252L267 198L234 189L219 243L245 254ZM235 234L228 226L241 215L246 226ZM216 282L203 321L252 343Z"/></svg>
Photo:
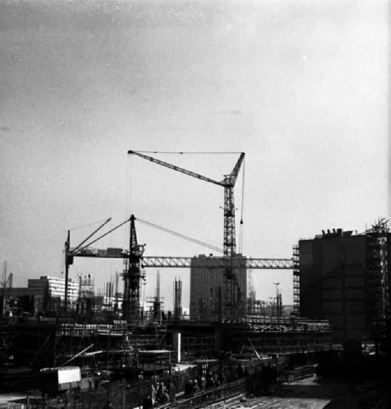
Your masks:
<svg viewBox="0 0 391 409"><path fill-rule="evenodd" d="M200 179L205 182L217 184L218 186L224 187L223 254L224 258L233 259L236 254L234 187L238 178L240 166L244 159L244 152L240 153L239 159L235 164L232 172L228 175L224 175L224 179L220 182L137 151L129 150L128 154L139 156L140 158L146 159L161 166L168 167L169 169L176 170L177 172L184 173L185 175L192 176L196 179ZM227 263L227 265L225 266L225 288L226 307L231 309L231 311L234 311L236 304L237 277L234 272L232 263Z"/></svg>

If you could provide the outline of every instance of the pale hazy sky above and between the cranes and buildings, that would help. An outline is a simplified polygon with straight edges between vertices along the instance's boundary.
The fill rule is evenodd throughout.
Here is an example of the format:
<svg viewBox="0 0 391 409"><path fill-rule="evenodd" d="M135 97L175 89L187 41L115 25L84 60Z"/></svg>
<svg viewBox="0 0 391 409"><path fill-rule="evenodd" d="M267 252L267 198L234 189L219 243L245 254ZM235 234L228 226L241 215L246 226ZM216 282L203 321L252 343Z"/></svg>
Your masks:
<svg viewBox="0 0 391 409"><path fill-rule="evenodd" d="M14 285L60 276L66 230L110 216L222 246L223 189L128 149L245 152L248 256L291 257L299 238L387 216L388 14L386 1L1 0L0 257ZM159 158L221 180L238 156ZM209 253L137 235L145 255ZM99 246L128 246L126 229ZM121 270L76 259L70 277L100 287ZM186 305L189 271L161 273L166 307L179 275ZM291 271L254 276L258 298L279 281L293 302Z"/></svg>

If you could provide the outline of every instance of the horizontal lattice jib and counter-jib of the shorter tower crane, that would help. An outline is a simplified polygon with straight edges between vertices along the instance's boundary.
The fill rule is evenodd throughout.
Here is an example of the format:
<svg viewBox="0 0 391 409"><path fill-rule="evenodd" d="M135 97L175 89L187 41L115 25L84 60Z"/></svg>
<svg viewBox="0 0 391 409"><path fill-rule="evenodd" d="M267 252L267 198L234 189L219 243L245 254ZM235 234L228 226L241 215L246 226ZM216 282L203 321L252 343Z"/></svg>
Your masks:
<svg viewBox="0 0 391 409"><path fill-rule="evenodd" d="M115 254L115 255L101 255L101 254L70 254L74 257L90 257L90 258L110 258L110 259L126 259L129 258L129 254L122 253L122 254ZM141 267L179 267L179 268L191 268L192 266L192 257L142 257L141 259ZM208 257L205 257L205 260L208 260ZM274 269L274 270L292 270L293 269L293 261L292 259L243 259L243 258L221 258L221 264L217 265L215 261L213 261L213 266L208 266L208 268L223 268L226 266L232 266L235 268L243 268L243 261L245 260L245 268L253 268L253 269ZM232 264L231 264L232 263Z"/></svg>

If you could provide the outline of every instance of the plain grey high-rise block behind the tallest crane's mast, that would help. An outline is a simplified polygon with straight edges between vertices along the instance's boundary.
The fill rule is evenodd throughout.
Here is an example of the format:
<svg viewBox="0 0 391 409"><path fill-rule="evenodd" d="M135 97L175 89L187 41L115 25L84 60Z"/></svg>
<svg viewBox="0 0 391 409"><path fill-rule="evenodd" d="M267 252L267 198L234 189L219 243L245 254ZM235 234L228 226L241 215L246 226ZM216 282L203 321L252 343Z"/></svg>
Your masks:
<svg viewBox="0 0 391 409"><path fill-rule="evenodd" d="M246 258L237 254L236 260L239 260L239 266L233 268L233 273L237 278L237 286L235 286L234 292L231 292L231 289L226 286L226 267L224 267L223 257L207 257L201 254L192 258L190 319L232 318L227 315L230 310L228 304L235 304L236 316L245 314L247 302Z"/></svg>

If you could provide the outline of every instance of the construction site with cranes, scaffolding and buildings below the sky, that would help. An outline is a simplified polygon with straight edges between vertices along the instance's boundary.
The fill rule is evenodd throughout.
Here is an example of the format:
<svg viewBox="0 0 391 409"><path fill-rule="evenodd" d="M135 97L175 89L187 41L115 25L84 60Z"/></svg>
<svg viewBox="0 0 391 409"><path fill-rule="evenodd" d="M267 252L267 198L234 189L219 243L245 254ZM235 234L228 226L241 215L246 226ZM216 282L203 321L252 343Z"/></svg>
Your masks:
<svg viewBox="0 0 391 409"><path fill-rule="evenodd" d="M68 230L64 278L41 276L29 279L27 287L14 287L13 274L4 263L2 392L22 391L26 384L40 390L41 400L26 403L31 408L43 407L43 402L49 407L64 407L64 402L78 408L103 408L110 402L118 408L140 407L157 376L174 382L178 396L188 397L189 377L214 373L218 390L229 394L248 389L243 371L254 376L268 368L276 371L276 379L292 380L313 375L327 357L341 353L389 356L391 233L386 219L362 233L323 230L312 239L299 240L283 259L252 258L242 254L242 215L238 248L236 239L234 187L244 153L222 181L142 152L128 154L223 187L222 248L132 214L96 237L110 221L106 220L78 245L71 244ZM243 170L242 174L244 181ZM204 245L221 256L147 256L148 237L139 244L138 223ZM123 225L129 226L129 248L99 248L100 239ZM120 259L123 271L97 290L90 274L78 276L76 282L69 279L77 258ZM149 268L158 269L155 296L143 297ZM174 308L165 307L160 280L168 268L190 269L189 306L182 305L182 281L175 278ZM256 299L252 278L261 269L292 275L292 306L283 304L280 283L274 283L272 301ZM57 389L49 390L42 384L48 368L58 372L58 379L59 368L79 368L80 373L63 382L67 385L63 389L58 382ZM195 405L193 400L186 402L182 407Z"/></svg>

